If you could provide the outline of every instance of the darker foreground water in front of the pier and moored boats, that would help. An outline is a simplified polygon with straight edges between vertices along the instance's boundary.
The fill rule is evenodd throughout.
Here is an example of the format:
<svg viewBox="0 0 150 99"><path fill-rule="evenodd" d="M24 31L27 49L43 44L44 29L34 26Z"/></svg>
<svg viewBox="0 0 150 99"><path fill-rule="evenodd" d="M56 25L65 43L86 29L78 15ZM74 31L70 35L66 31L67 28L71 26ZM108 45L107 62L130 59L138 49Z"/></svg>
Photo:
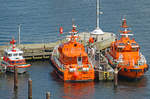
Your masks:
<svg viewBox="0 0 150 99"><path fill-rule="evenodd" d="M45 99L51 92L51 99L149 99L149 76L140 81L119 81L117 90L113 82L64 83L53 72L49 61L32 62L29 72L18 75L19 89L13 91L13 75L0 75L0 99L27 99L28 79L32 79L33 99Z"/></svg>

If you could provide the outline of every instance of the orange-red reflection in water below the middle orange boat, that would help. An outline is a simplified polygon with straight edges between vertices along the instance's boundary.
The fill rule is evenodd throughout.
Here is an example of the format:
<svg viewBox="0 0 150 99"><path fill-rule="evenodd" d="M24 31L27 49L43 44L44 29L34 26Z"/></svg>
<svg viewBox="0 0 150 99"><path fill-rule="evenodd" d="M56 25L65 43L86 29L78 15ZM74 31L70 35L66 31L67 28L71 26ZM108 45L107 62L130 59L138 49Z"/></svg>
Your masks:
<svg viewBox="0 0 150 99"><path fill-rule="evenodd" d="M64 99L93 99L94 82L64 82Z"/></svg>

